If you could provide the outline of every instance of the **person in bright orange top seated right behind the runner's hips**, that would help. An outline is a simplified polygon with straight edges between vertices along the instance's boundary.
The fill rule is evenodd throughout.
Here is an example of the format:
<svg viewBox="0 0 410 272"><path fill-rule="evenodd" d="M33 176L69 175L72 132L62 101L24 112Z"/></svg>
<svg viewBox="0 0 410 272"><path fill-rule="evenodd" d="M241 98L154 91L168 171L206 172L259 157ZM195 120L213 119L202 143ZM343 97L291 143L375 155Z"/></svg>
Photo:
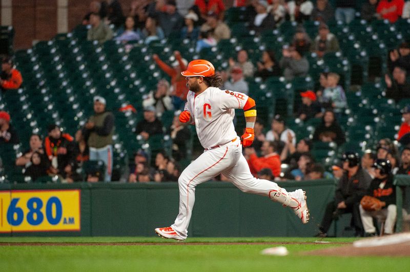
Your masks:
<svg viewBox="0 0 410 272"><path fill-rule="evenodd" d="M263 168L269 168L275 176L280 175L280 156L276 152L277 145L277 141L264 141L261 147L263 157L258 157L253 147L245 148L245 155L248 157L249 168L253 174L257 174Z"/></svg>

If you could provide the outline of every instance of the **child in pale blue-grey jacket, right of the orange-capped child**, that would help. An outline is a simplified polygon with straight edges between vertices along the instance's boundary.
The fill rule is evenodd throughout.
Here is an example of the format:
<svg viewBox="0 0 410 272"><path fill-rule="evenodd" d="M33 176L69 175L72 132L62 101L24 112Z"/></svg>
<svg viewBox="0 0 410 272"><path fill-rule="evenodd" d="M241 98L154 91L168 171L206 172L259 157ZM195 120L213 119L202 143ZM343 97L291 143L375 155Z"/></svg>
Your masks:
<svg viewBox="0 0 410 272"><path fill-rule="evenodd" d="M339 85L340 76L336 73L327 75L327 87L323 90L323 102L333 108L337 118L343 114L347 106L344 89Z"/></svg>

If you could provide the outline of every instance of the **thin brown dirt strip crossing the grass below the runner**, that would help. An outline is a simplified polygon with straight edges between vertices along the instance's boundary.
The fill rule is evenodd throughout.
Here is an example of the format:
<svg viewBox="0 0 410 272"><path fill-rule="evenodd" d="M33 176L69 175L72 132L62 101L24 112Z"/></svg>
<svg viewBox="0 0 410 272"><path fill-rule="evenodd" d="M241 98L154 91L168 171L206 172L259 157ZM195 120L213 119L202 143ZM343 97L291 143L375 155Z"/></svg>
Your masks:
<svg viewBox="0 0 410 272"><path fill-rule="evenodd" d="M163 243L135 243L135 242L113 242L113 243L55 243L55 242L0 242L0 246L24 246L24 245L243 245L243 244L262 244L262 245L286 245L286 244L322 244L322 242L163 242ZM325 244L351 244L350 242L326 242Z"/></svg>

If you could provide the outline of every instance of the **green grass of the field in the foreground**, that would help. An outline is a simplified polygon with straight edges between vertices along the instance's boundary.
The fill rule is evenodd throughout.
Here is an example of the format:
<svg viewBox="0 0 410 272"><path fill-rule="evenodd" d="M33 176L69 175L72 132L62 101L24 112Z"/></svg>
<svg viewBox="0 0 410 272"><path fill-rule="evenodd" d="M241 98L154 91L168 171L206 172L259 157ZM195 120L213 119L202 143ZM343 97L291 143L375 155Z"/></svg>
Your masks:
<svg viewBox="0 0 410 272"><path fill-rule="evenodd" d="M186 242L150 237L0 237L0 271L409 271L404 257L303 256L302 252L343 244L297 244L316 238L189 238ZM323 241L352 242L350 238ZM13 245L41 242L68 245ZM277 244L193 242L296 242L285 257L263 256ZM8 243L8 245L4 244ZM76 243L75 245L69 245ZM159 245L77 245L77 243L161 243ZM162 244L163 243L163 244Z"/></svg>

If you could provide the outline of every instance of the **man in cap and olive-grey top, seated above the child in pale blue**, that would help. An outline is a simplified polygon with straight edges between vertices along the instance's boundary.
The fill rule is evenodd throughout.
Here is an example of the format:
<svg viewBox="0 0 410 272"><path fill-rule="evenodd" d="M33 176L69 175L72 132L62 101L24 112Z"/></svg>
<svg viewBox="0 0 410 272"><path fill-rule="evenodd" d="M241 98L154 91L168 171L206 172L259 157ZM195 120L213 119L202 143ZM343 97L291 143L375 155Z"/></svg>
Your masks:
<svg viewBox="0 0 410 272"><path fill-rule="evenodd" d="M330 33L329 27L320 24L319 35L316 36L312 43L311 51L315 52L319 58L324 54L339 51L339 41L333 33Z"/></svg>

